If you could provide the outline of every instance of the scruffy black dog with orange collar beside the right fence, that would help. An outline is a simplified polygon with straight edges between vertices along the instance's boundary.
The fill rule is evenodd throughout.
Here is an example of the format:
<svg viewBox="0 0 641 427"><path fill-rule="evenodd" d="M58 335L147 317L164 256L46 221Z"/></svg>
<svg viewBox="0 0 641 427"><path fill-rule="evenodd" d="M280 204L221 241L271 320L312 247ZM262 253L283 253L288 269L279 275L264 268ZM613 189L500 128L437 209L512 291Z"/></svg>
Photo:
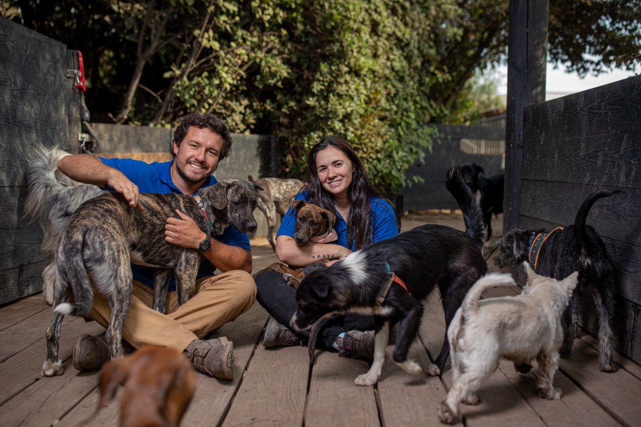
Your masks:
<svg viewBox="0 0 641 427"><path fill-rule="evenodd" d="M570 356L572 343L581 326L581 293L589 288L600 317L599 369L605 372L614 371L613 267L603 240L594 227L585 224L585 220L595 201L617 193L620 190L601 190L588 196L576 213L574 225L555 228L547 233L537 228L509 231L497 242L500 249L494 258L494 264L503 269L515 269L522 262L529 262L537 274L556 280L563 280L574 271L579 272L579 283L563 313L560 355Z"/></svg>

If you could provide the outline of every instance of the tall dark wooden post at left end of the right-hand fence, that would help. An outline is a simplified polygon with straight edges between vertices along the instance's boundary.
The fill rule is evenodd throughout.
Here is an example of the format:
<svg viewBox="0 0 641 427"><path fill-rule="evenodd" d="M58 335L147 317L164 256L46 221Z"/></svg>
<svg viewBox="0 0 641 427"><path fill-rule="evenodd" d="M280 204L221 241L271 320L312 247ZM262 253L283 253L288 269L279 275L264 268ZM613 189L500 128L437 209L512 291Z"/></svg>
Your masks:
<svg viewBox="0 0 641 427"><path fill-rule="evenodd" d="M503 232L519 225L523 110L545 101L548 0L510 0Z"/></svg>

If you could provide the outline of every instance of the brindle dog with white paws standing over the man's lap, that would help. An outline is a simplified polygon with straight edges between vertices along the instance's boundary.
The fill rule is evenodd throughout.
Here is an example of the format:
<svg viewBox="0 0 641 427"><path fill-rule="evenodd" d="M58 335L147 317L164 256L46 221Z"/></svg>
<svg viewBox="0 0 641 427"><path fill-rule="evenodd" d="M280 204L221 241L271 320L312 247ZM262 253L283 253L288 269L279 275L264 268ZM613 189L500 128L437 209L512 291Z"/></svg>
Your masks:
<svg viewBox="0 0 641 427"><path fill-rule="evenodd" d="M60 235L56 251L54 310L47 328L47 358L44 376L63 373L58 358L60 327L65 314L87 316L96 289L109 301L112 314L105 338L112 358L122 356L122 322L129 313L132 294L130 262L156 267L154 272L154 310L164 312L167 287L176 276L178 304L194 293L196 274L203 256L197 249L165 241L167 217L185 213L207 235L220 235L229 224L242 233L256 231L253 210L256 186L249 181L231 179L201 188L195 197L184 194L140 193L145 210L128 205L118 193L104 194L83 203L74 212ZM262 190L262 188L260 188ZM206 215L204 215L204 214ZM208 223L212 222L211 230ZM74 303L69 303L71 296Z"/></svg>

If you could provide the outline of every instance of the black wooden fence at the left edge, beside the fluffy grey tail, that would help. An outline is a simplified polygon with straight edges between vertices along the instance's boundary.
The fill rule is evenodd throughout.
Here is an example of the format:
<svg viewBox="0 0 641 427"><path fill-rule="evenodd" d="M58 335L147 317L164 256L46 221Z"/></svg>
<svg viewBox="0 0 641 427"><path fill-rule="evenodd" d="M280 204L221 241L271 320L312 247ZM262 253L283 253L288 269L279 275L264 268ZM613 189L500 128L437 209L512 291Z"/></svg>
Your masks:
<svg viewBox="0 0 641 427"><path fill-rule="evenodd" d="M42 288L42 231L23 217L25 158L35 144L68 148L78 138L80 94L67 77L76 58L65 45L0 18L0 303Z"/></svg>

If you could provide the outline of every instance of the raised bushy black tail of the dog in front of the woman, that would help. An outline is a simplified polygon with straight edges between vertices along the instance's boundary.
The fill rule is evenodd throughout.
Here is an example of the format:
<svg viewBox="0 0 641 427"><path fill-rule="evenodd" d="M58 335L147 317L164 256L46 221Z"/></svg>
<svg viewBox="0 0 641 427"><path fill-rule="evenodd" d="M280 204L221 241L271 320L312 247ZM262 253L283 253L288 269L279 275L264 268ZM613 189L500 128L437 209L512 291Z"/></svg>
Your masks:
<svg viewBox="0 0 641 427"><path fill-rule="evenodd" d="M463 212L465 220L465 233L467 233L476 243L476 246L483 251L483 241L485 237L485 223L483 222L483 212L472 194L470 187L465 184L458 170L458 166L451 167L445 174L445 186L454 196L458 207Z"/></svg>

